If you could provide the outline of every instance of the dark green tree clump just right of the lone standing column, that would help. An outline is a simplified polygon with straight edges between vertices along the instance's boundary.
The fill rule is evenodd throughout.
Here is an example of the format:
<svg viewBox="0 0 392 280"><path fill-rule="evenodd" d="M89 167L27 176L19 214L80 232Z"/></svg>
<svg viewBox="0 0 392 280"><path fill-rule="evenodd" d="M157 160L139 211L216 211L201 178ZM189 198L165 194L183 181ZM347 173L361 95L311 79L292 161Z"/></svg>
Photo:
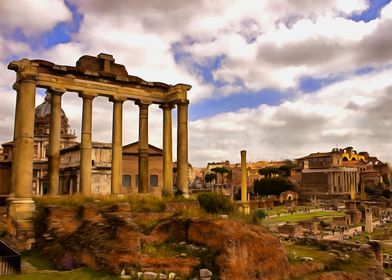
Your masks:
<svg viewBox="0 0 392 280"><path fill-rule="evenodd" d="M280 176L263 178L254 182L254 192L258 195L279 195L282 192L293 189L294 185Z"/></svg>

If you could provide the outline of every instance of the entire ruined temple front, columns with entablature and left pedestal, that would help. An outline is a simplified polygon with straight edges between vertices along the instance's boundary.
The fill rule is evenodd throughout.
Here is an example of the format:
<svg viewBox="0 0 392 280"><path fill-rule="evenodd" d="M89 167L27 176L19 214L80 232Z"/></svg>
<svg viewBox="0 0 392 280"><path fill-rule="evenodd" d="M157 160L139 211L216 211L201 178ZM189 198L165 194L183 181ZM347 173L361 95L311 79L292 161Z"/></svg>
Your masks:
<svg viewBox="0 0 392 280"><path fill-rule="evenodd" d="M17 91L14 123L11 194L8 202L8 232L14 240L29 243L32 231L33 137L36 88L51 95L49 139L49 190L58 194L60 167L61 96L75 92L83 99L80 149L80 192L91 194L91 150L93 100L105 96L113 103L111 194L118 195L122 182L122 113L123 103L131 100L139 106L139 193L149 190L148 176L148 108L158 104L163 111L163 190L173 192L172 109L177 106L177 188L188 196L188 104L186 84L168 85L146 82L130 76L124 65L112 55L82 56L76 66L57 65L44 60L13 61L8 69L16 72Z"/></svg>

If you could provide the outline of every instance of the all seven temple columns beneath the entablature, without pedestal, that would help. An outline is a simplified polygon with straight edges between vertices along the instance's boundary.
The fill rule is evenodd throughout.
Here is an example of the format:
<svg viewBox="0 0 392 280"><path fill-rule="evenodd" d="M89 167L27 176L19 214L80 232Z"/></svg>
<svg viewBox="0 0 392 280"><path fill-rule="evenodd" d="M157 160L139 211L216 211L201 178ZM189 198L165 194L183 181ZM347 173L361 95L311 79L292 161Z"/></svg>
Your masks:
<svg viewBox="0 0 392 280"><path fill-rule="evenodd" d="M14 126L14 159L12 192L17 198L30 198L34 110L36 84L33 77L18 79L15 83L17 102ZM51 88L51 121L49 139L49 187L50 194L58 194L60 176L60 129L61 96L65 90ZM82 135L80 144L80 192L91 193L92 152L92 102L94 93L81 93L83 99ZM113 102L112 127L112 174L111 193L120 194L122 187L122 120L123 102L126 98L111 97ZM151 103L135 102L139 106L139 192L147 193L148 184L148 107ZM188 101L177 104L177 187L188 194ZM161 104L163 110L163 191L173 191L172 165L172 109L174 104Z"/></svg>

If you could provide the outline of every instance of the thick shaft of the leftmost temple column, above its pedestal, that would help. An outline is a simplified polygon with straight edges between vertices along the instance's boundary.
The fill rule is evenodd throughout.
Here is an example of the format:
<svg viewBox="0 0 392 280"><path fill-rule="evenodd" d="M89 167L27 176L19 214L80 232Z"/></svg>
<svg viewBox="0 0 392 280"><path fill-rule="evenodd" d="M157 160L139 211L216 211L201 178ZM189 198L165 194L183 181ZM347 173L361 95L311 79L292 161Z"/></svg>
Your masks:
<svg viewBox="0 0 392 280"><path fill-rule="evenodd" d="M16 88L11 192L16 198L31 198L36 84L30 77L20 80Z"/></svg>

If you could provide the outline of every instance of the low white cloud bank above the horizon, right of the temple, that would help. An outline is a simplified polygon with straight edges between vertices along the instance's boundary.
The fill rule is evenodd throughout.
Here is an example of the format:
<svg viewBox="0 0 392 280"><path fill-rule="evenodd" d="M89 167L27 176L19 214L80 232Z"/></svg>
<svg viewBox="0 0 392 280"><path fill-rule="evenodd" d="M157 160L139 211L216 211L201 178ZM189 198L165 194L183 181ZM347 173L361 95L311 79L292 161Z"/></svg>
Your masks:
<svg viewBox="0 0 392 280"><path fill-rule="evenodd" d="M391 74L392 69L385 69L351 77L279 106L261 105L191 122L190 160L195 166L239 162L241 149L248 150L252 161L298 158L337 145L391 161Z"/></svg>

